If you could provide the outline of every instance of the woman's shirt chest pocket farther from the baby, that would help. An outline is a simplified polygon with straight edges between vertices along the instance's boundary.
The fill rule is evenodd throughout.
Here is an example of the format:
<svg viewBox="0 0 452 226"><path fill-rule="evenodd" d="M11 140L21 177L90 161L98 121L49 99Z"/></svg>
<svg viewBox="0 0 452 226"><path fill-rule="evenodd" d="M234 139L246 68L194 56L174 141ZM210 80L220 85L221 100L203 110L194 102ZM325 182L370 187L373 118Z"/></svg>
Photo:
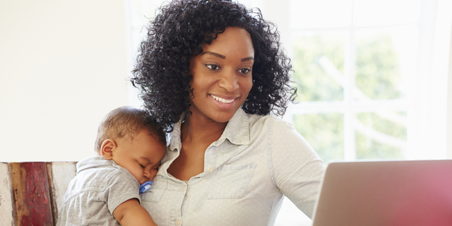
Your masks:
<svg viewBox="0 0 452 226"><path fill-rule="evenodd" d="M243 198L254 169L256 163L222 165L210 185L208 199Z"/></svg>

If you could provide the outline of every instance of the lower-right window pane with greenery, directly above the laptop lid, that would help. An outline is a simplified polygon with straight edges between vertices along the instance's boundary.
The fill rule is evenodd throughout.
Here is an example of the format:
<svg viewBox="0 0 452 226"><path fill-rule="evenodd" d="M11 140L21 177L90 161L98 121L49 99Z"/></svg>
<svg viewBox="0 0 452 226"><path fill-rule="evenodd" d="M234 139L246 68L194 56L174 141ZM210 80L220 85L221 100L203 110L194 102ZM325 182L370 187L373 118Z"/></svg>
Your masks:
<svg viewBox="0 0 452 226"><path fill-rule="evenodd" d="M396 117L388 117L396 115ZM405 112L356 114L357 159L398 159L405 157L407 128Z"/></svg>

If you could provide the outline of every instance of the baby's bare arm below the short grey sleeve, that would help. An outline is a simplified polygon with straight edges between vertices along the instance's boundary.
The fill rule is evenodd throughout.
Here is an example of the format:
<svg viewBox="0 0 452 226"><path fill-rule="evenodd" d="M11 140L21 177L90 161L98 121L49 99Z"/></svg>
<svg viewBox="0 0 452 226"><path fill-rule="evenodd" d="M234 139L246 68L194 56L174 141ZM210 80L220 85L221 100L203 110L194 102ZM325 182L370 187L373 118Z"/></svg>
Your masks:
<svg viewBox="0 0 452 226"><path fill-rule="evenodd" d="M119 224L128 225L152 225L155 224L153 218L150 217L148 211L140 206L136 198L131 198L124 203L121 203L113 211L114 218L119 222Z"/></svg>

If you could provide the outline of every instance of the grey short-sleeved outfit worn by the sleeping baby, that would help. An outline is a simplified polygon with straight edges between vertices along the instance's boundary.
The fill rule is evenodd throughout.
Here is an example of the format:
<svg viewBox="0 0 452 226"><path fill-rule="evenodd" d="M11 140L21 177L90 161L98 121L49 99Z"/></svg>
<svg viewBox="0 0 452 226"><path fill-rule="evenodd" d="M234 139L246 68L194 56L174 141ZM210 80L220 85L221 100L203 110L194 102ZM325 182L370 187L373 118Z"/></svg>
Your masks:
<svg viewBox="0 0 452 226"><path fill-rule="evenodd" d="M131 198L138 199L140 184L113 160L88 157L77 163L59 210L57 225L119 225L113 210Z"/></svg>

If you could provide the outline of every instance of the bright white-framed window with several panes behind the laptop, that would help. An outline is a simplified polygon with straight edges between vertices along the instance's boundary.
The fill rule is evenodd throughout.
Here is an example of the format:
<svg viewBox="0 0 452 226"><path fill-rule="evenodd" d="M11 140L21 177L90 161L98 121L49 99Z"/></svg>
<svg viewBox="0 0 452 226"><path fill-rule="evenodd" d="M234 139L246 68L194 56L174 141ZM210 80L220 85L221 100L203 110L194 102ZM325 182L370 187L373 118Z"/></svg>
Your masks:
<svg viewBox="0 0 452 226"><path fill-rule="evenodd" d="M324 161L408 157L408 83L416 71L420 5L290 2L300 102L292 121Z"/></svg>

